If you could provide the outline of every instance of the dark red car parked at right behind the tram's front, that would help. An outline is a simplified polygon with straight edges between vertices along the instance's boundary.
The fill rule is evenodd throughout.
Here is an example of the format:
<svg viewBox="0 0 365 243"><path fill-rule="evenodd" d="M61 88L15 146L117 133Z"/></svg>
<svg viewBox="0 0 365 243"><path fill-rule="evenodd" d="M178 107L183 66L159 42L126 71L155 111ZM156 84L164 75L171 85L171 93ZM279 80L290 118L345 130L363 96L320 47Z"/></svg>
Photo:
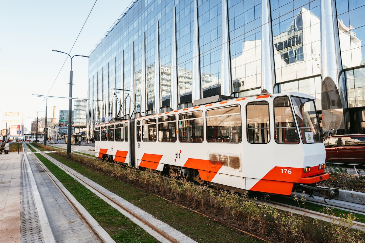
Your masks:
<svg viewBox="0 0 365 243"><path fill-rule="evenodd" d="M365 134L331 136L324 147L327 163L365 165Z"/></svg>

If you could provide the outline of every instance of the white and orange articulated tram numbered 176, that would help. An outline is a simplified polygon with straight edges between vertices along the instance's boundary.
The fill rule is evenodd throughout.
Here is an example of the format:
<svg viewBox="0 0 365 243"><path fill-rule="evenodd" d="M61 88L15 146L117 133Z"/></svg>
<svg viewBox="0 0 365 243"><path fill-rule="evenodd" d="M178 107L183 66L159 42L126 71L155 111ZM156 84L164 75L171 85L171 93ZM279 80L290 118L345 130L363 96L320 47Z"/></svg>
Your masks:
<svg viewBox="0 0 365 243"><path fill-rule="evenodd" d="M329 178L310 95L199 101L187 109L97 125L96 157L238 192L290 195Z"/></svg>

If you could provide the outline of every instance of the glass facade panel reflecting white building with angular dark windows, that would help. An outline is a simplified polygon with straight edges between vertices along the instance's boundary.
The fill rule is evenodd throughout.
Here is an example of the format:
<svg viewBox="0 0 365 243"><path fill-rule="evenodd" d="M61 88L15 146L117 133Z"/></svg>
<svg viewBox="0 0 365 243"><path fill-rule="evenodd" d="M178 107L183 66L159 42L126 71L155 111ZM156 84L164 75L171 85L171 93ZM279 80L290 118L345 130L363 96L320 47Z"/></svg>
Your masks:
<svg viewBox="0 0 365 243"><path fill-rule="evenodd" d="M276 13L272 23L277 83L321 73L319 4L319 0L271 1Z"/></svg>

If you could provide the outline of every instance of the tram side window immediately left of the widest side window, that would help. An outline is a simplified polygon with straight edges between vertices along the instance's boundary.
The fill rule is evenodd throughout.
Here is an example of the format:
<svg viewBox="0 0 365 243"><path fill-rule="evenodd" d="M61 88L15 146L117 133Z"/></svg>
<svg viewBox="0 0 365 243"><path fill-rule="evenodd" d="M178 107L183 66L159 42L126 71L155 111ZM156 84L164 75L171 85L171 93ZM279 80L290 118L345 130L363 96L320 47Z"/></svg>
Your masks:
<svg viewBox="0 0 365 243"><path fill-rule="evenodd" d="M203 111L179 115L179 141L203 142Z"/></svg>

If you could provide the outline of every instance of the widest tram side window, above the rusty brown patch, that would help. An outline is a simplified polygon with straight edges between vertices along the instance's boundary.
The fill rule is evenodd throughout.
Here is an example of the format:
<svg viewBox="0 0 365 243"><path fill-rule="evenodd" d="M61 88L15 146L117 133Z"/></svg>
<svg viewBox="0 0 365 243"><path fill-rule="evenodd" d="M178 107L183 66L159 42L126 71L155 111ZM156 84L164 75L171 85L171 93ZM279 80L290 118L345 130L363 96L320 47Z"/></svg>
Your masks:
<svg viewBox="0 0 365 243"><path fill-rule="evenodd" d="M242 141L241 109L239 106L223 107L207 111L207 141Z"/></svg>

